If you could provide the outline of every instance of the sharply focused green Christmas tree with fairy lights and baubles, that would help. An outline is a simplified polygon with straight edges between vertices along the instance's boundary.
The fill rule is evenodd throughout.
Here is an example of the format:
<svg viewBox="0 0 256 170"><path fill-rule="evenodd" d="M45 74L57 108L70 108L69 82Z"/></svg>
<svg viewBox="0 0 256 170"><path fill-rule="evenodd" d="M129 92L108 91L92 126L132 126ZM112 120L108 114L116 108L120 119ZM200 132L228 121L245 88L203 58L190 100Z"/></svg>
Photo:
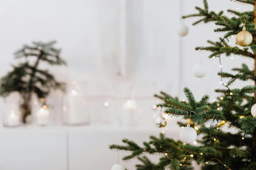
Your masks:
<svg viewBox="0 0 256 170"><path fill-rule="evenodd" d="M216 42L208 40L210 46L196 47L196 50L210 51L209 58L220 58L222 54L247 57L254 61L254 69L250 70L246 64L242 64L241 68L232 69L237 74L221 70L218 73L221 78L220 83L223 84L222 78L226 78L228 83L223 84L224 89L215 90L220 96L213 103L209 102L210 97L207 94L197 102L187 87L183 89L183 92L188 103L174 99L164 92L155 95L164 100L164 103L159 106L165 107L165 113L169 116L188 120L191 117L190 127L185 128L198 127L196 133L201 136L198 141L200 144L174 141L161 134L160 138L151 136L150 141L145 142L144 146L138 146L128 139L123 139L126 144L124 146L110 146L111 149L130 150L131 154L123 160L138 158L143 164L137 165L137 170L191 169L193 168L192 160L200 164L203 170L256 169L256 117L254 117L256 116L256 105L254 105L256 103L256 1L233 1L253 6L254 10L237 12L228 9L229 13L236 16L228 18L223 15L223 11L218 13L209 11L207 1L203 0L204 8L196 7L198 13L183 16L183 18L200 17L193 25L200 22L214 22L218 26L214 32L225 32L225 35ZM249 46L249 48L231 47L229 38L234 35L236 35L238 45ZM248 81L248 84L251 84L252 80L254 85L231 89L230 86L237 80ZM187 126L181 122L179 125ZM223 132L224 126L236 132ZM189 135L186 134L185 138ZM181 134L180 136L182 137ZM142 157L143 153L159 153L162 157L159 163L153 164L147 158Z"/></svg>

